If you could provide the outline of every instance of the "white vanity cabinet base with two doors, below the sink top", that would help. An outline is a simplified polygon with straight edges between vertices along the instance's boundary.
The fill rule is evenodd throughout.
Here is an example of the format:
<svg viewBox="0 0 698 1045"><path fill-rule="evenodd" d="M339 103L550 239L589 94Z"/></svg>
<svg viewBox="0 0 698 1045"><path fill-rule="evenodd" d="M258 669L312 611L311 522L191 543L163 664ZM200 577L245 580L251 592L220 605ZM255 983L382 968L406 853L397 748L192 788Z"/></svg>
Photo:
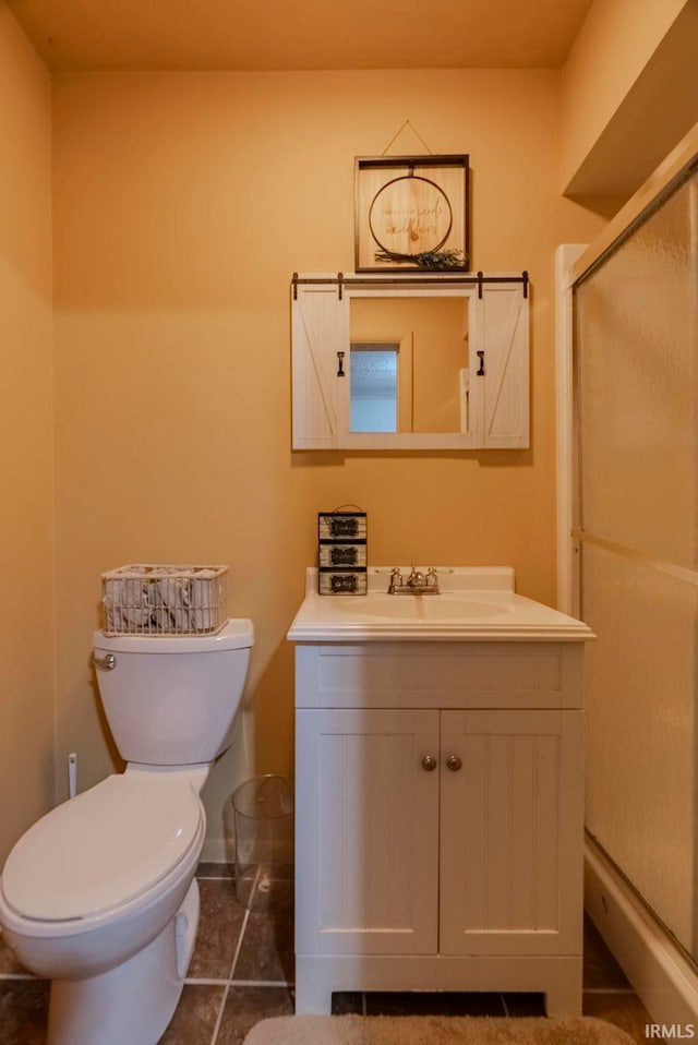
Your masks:
<svg viewBox="0 0 698 1045"><path fill-rule="evenodd" d="M298 1012L333 990L580 1011L582 651L297 646Z"/></svg>

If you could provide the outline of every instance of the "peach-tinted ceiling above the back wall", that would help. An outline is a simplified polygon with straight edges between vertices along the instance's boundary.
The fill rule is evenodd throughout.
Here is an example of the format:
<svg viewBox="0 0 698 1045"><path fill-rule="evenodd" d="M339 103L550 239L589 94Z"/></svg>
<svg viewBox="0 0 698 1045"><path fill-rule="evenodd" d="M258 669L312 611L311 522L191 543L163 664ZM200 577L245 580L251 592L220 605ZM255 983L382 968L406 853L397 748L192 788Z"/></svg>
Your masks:
<svg viewBox="0 0 698 1045"><path fill-rule="evenodd" d="M557 69L592 0L4 2L50 69L87 72Z"/></svg>

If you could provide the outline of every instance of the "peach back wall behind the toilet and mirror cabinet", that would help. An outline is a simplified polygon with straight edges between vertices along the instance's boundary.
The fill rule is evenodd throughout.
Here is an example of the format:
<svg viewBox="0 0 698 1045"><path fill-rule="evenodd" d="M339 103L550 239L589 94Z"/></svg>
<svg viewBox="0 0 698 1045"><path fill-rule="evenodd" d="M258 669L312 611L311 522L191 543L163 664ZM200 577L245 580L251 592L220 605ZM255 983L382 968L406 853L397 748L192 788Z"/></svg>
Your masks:
<svg viewBox="0 0 698 1045"><path fill-rule="evenodd" d="M213 855L232 785L292 773L285 635L317 511L362 505L374 563L510 564L553 601L554 249L603 225L558 195L558 86L549 71L57 77L59 793L69 750L82 786L112 765L89 670L106 568L227 562L230 612L255 622L248 711L205 790ZM406 115L433 152L470 154L473 266L530 271L528 452L291 453L291 274L351 269L353 157Z"/></svg>

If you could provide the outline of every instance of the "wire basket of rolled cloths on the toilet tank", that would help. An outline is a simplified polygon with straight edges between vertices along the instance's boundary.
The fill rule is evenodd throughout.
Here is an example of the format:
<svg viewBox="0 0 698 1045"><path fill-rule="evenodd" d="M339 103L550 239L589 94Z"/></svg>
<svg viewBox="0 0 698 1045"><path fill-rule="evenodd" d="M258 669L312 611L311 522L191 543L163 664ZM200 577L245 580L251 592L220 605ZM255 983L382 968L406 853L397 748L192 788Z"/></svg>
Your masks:
<svg viewBox="0 0 698 1045"><path fill-rule="evenodd" d="M101 575L106 635L212 635L225 625L227 566L131 563Z"/></svg>

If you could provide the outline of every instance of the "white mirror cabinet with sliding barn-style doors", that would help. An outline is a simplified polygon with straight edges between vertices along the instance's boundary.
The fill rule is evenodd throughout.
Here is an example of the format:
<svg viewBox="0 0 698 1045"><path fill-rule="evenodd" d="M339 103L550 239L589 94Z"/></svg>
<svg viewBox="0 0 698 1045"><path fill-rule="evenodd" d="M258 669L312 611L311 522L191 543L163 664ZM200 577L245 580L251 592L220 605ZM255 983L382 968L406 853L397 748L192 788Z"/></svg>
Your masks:
<svg viewBox="0 0 698 1045"><path fill-rule="evenodd" d="M293 449L529 445L529 280L293 275Z"/></svg>

